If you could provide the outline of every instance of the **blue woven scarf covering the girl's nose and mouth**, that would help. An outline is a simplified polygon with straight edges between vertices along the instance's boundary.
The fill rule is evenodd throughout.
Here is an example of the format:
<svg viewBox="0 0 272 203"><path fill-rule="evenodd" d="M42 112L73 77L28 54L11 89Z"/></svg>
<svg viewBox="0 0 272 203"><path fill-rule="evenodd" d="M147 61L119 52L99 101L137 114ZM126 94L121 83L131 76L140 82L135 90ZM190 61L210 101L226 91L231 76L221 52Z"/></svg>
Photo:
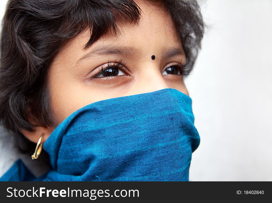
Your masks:
<svg viewBox="0 0 272 203"><path fill-rule="evenodd" d="M176 89L105 99L73 112L50 134L43 150L52 170L42 180L188 181L199 143L192 99Z"/></svg>

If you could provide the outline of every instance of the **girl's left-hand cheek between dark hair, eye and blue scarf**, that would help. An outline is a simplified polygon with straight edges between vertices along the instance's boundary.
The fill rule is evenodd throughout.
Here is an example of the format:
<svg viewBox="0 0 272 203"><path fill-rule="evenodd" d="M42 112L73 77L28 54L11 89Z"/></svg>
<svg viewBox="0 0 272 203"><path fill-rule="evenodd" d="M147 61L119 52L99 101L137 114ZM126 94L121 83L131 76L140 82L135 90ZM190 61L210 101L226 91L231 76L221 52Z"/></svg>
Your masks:
<svg viewBox="0 0 272 203"><path fill-rule="evenodd" d="M96 101L123 96L119 88L86 84L71 74L49 79L52 111L58 124L76 110ZM124 92L124 90L123 90Z"/></svg>

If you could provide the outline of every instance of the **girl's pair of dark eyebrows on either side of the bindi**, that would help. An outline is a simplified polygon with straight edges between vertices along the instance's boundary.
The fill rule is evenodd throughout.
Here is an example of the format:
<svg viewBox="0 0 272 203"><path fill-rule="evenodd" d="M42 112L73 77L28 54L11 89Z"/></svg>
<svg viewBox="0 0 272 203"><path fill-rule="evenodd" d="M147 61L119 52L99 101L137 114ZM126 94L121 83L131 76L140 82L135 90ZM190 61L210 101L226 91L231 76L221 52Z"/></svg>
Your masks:
<svg viewBox="0 0 272 203"><path fill-rule="evenodd" d="M82 61L85 61L90 58L94 58L100 55L122 55L122 56L139 56L140 50L131 46L100 46L95 47L89 53L85 54L78 61L76 61L75 65L77 66ZM183 49L181 47L170 47L168 49L162 49L160 53L160 57L170 58L175 55L185 55Z"/></svg>

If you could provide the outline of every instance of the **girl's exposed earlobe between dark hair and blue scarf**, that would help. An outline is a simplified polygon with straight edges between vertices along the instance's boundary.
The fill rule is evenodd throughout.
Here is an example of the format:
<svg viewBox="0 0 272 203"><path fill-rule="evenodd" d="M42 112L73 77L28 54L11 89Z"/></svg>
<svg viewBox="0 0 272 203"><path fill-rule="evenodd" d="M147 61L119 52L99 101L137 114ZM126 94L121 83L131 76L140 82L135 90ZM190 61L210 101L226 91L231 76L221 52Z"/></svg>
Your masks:
<svg viewBox="0 0 272 203"><path fill-rule="evenodd" d="M28 138L31 142L37 143L40 135L44 133L44 136L41 139L41 143L44 143L49 135L53 132L54 128L52 127L47 127L47 126L38 126L34 128L33 132L29 132L26 130L21 129L21 132L23 135Z"/></svg>

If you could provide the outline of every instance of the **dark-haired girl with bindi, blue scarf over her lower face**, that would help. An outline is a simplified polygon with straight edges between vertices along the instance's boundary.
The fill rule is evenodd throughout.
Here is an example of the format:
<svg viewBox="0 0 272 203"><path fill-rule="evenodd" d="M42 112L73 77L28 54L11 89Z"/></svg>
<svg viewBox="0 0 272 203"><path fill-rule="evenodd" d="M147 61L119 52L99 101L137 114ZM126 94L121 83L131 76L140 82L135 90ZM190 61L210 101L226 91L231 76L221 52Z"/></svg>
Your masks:
<svg viewBox="0 0 272 203"><path fill-rule="evenodd" d="M1 180L188 181L202 36L196 1L9 1L0 119L50 167L18 160Z"/></svg>

